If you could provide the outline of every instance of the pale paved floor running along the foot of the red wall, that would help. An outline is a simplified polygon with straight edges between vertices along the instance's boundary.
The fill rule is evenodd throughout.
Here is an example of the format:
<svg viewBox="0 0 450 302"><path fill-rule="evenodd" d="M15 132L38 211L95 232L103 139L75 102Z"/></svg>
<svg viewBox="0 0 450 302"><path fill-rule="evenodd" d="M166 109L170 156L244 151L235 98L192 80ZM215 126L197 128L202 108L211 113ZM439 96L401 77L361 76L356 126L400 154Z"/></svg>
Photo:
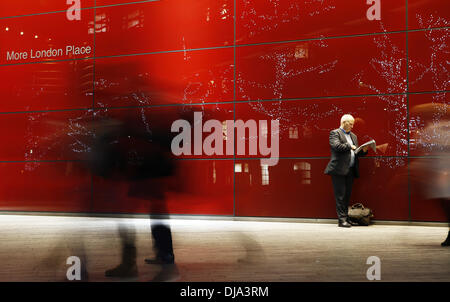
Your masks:
<svg viewBox="0 0 450 302"><path fill-rule="evenodd" d="M169 223L179 281L368 281L370 256L380 259L381 281L450 281L446 227ZM89 281L121 281L104 277L120 262L119 225L136 236L134 281L152 280L160 267L143 261L153 255L146 219L0 215L0 281L66 281L69 256L86 262Z"/></svg>

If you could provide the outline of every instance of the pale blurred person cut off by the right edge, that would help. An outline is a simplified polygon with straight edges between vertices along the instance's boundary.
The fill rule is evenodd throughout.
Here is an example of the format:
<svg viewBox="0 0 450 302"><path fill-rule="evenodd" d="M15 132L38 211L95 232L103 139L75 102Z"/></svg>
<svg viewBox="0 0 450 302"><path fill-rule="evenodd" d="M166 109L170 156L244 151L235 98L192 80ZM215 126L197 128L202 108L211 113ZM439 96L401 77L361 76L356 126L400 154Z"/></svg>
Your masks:
<svg viewBox="0 0 450 302"><path fill-rule="evenodd" d="M410 165L410 176L419 185L426 200L440 202L450 228L450 106L426 103L412 108L419 119L431 120L412 138L419 148L427 151L428 158L415 160ZM450 231L442 246L450 246Z"/></svg>

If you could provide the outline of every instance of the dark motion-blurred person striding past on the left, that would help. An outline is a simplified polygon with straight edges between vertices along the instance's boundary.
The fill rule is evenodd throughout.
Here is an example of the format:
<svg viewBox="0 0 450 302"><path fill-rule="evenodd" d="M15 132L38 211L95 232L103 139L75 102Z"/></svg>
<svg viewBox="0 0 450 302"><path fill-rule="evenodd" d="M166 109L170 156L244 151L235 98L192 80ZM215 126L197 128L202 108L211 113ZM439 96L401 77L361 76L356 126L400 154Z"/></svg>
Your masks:
<svg viewBox="0 0 450 302"><path fill-rule="evenodd" d="M164 119L164 117L161 117ZM170 149L171 133L164 127L143 127L139 118L101 118L91 125L93 132L89 166L95 175L129 183L130 197L149 201L149 213L168 213L165 203L167 177L173 175L175 162ZM159 217L161 218L161 217ZM156 258L147 263L160 264L163 270L154 281L169 281L178 276L170 227L152 222ZM105 272L107 277L137 277L134 230L119 228L122 241L121 263Z"/></svg>

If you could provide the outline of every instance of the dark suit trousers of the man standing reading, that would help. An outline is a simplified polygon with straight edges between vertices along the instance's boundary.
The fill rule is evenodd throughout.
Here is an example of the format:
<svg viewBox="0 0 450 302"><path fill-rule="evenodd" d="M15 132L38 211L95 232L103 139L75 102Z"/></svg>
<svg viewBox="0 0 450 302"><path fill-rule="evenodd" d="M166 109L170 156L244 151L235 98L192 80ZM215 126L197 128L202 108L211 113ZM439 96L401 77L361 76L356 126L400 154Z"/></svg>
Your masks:
<svg viewBox="0 0 450 302"><path fill-rule="evenodd" d="M349 169L347 175L331 175L334 198L336 199L336 212L338 218L342 220L346 220L348 217L348 206L352 194L353 179L353 168Z"/></svg>

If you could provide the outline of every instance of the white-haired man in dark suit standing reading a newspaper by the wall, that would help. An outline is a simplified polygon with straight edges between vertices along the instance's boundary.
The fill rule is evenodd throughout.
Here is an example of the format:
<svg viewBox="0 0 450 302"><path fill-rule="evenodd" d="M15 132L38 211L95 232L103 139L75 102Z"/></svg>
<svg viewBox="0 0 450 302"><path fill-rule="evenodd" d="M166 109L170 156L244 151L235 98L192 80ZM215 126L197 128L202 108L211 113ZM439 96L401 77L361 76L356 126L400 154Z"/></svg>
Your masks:
<svg viewBox="0 0 450 302"><path fill-rule="evenodd" d="M351 227L348 220L348 206L352 193L354 178L359 177L358 157L367 154L367 147L355 154L358 148L358 138L351 132L355 119L350 114L341 118L341 126L330 132L331 159L325 169L325 174L331 175L336 212L340 227Z"/></svg>

